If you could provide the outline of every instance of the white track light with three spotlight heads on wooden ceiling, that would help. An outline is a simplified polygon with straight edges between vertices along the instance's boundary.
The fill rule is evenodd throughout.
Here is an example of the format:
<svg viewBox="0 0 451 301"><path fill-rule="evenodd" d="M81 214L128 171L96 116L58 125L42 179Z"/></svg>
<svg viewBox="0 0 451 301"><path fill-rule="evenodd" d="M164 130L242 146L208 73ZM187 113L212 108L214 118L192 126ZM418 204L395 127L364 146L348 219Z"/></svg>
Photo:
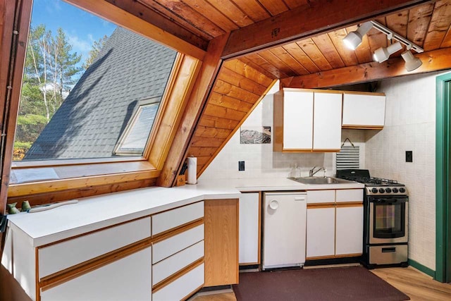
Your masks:
<svg viewBox="0 0 451 301"><path fill-rule="evenodd" d="M343 39L343 42L347 47L354 50L359 46L359 44L362 43L362 37L366 35L366 33L369 32L371 28L376 28L376 30L379 30L383 34L387 35L387 39L395 40L395 42L390 46L381 47L379 49L376 49L376 51L374 51L373 58L375 61L379 63L387 61L390 54L394 54L396 51L401 50L402 45L404 45L407 51L404 51L401 54L401 56L402 59L404 59L404 61L406 62L405 63L406 70L412 71L421 66L421 60L415 58L410 50L412 49L418 53L423 52L424 50L418 45L410 42L405 37L398 35L396 32L393 32L393 30L390 30L389 28L385 27L384 25L376 21L369 21L363 23L356 31L348 33L346 37Z"/></svg>

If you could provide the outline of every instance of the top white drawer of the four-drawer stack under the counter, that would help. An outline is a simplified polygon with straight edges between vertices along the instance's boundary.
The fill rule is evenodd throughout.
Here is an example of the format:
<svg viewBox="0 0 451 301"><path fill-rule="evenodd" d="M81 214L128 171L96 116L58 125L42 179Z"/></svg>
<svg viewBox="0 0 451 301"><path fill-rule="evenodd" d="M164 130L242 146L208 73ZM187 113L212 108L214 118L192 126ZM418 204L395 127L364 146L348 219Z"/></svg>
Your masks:
<svg viewBox="0 0 451 301"><path fill-rule="evenodd" d="M204 202L197 202L152 216L152 235L204 217Z"/></svg>

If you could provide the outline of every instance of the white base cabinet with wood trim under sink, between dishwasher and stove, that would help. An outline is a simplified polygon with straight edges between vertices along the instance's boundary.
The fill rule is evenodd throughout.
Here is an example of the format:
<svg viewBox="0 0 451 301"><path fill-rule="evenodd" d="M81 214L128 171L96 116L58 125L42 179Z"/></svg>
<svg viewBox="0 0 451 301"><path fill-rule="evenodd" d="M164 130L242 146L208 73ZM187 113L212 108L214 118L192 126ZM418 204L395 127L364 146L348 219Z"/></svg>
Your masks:
<svg viewBox="0 0 451 301"><path fill-rule="evenodd" d="M363 190L307 191L307 260L362 254Z"/></svg>

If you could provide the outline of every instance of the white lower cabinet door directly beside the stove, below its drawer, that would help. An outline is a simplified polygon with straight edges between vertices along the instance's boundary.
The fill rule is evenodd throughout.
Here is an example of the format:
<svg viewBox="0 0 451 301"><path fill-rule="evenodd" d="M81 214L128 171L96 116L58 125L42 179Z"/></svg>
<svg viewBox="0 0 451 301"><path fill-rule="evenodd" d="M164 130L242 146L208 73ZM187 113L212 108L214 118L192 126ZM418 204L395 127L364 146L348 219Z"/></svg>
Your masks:
<svg viewBox="0 0 451 301"><path fill-rule="evenodd" d="M337 207L335 254L362 254L364 209Z"/></svg>

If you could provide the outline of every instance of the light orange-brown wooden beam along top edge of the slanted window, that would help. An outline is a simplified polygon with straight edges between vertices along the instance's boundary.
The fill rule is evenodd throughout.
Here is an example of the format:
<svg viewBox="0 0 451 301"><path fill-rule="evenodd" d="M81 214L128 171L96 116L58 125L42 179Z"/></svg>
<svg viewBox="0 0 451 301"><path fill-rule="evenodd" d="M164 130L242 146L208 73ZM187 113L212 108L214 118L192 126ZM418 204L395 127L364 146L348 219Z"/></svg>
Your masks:
<svg viewBox="0 0 451 301"><path fill-rule="evenodd" d="M105 18L112 23L120 25L132 30L137 34L148 37L156 42L159 42L166 47L174 49L175 51L187 54L195 59L203 60L205 50L190 44L190 42L181 39L170 32L160 28L157 25L149 23L147 20L138 18L132 12L124 11L123 8L111 4L108 0L64 0L78 8L89 11L96 16ZM121 1L111 1L113 3ZM125 5L125 4L123 4ZM131 7L131 6L130 6ZM149 13L149 11L147 12Z"/></svg>

